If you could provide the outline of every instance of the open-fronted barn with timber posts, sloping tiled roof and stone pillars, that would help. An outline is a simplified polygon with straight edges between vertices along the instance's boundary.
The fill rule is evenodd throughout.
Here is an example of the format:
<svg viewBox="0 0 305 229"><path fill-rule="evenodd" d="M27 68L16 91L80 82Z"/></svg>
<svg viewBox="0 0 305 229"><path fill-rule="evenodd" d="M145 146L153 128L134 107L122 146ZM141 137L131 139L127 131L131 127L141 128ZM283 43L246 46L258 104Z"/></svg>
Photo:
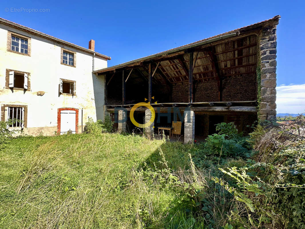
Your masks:
<svg viewBox="0 0 305 229"><path fill-rule="evenodd" d="M93 71L105 82L104 113L131 132L139 128L132 119L147 123L153 109L145 133L170 131L178 121L185 143L216 133L220 122L248 133L256 121L274 121L279 19ZM140 102L149 105L132 110Z"/></svg>

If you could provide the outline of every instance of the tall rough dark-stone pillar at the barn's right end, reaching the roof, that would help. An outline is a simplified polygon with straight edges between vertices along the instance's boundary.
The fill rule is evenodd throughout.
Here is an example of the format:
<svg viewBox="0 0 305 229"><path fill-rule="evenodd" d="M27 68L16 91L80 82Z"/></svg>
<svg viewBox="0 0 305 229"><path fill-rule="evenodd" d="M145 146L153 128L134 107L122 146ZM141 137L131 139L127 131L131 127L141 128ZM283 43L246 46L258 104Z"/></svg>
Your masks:
<svg viewBox="0 0 305 229"><path fill-rule="evenodd" d="M278 24L278 22L277 22ZM263 28L260 37L260 122L276 121L276 25Z"/></svg>

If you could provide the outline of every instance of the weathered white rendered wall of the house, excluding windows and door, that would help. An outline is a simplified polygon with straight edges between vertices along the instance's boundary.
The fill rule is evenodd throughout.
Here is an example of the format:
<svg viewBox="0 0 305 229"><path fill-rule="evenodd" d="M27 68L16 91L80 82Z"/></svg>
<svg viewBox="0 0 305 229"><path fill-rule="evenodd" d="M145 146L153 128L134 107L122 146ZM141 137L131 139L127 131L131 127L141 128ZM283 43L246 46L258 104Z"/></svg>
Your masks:
<svg viewBox="0 0 305 229"><path fill-rule="evenodd" d="M30 56L7 50L8 31L30 37ZM61 64L62 49L75 53L75 67ZM52 135L60 125L58 109L76 108L81 133L81 124L84 127L88 117L103 119L104 79L92 74L92 65L92 53L0 23L1 120L7 118L7 105L26 105L23 133ZM94 65L94 70L105 68L107 59L95 55ZM30 73L30 89L7 88L7 69ZM75 81L75 95L60 93L60 79ZM45 93L39 96L40 91Z"/></svg>

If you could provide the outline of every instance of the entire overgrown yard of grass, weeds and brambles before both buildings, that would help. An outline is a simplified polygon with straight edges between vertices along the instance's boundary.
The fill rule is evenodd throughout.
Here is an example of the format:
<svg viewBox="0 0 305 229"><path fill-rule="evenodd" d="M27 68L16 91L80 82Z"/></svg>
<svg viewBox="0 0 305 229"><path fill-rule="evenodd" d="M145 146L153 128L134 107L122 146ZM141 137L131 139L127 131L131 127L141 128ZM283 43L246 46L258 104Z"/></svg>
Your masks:
<svg viewBox="0 0 305 229"><path fill-rule="evenodd" d="M242 136L219 125L204 144L101 132L5 138L0 228L305 229L304 129Z"/></svg>

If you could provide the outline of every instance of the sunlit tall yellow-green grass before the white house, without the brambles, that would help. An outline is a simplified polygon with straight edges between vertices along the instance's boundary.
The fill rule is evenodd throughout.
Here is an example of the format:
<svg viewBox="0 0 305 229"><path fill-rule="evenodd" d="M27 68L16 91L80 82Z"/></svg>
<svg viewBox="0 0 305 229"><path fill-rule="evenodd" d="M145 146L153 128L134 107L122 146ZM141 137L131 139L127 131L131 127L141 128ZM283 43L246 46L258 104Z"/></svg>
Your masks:
<svg viewBox="0 0 305 229"><path fill-rule="evenodd" d="M188 169L191 145L136 135L22 137L0 152L0 228L205 228L144 165ZM147 166L146 165L146 166Z"/></svg>

